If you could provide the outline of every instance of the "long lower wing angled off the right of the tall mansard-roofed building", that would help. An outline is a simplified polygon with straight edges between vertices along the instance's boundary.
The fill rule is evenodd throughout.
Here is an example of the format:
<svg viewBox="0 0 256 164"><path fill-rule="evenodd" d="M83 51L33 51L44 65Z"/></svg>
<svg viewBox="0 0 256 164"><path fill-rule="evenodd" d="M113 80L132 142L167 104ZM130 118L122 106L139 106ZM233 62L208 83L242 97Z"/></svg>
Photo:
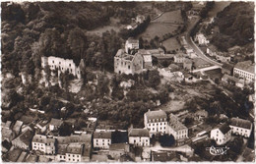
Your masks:
<svg viewBox="0 0 256 164"><path fill-rule="evenodd" d="M175 140L183 140L188 137L188 129L173 114L169 115L168 132Z"/></svg>

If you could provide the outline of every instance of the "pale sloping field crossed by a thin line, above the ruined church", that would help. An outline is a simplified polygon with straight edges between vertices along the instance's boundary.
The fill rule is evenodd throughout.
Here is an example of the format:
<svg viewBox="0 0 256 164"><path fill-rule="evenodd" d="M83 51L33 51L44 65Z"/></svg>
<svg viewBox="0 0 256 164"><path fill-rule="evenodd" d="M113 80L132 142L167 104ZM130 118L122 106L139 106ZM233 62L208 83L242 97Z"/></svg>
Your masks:
<svg viewBox="0 0 256 164"><path fill-rule="evenodd" d="M140 36L144 39L153 39L155 36L162 37L164 34L172 33L179 26L182 27L183 20L180 11L164 13L159 19L151 22L149 27Z"/></svg>

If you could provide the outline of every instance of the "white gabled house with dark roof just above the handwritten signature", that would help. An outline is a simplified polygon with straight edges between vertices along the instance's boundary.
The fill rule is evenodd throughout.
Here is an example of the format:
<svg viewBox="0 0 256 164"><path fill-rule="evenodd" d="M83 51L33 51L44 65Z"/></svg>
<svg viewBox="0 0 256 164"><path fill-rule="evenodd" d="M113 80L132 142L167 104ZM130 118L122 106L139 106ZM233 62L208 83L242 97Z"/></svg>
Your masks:
<svg viewBox="0 0 256 164"><path fill-rule="evenodd" d="M231 139L231 129L227 124L219 125L211 131L211 138L215 139L218 145L224 144Z"/></svg>

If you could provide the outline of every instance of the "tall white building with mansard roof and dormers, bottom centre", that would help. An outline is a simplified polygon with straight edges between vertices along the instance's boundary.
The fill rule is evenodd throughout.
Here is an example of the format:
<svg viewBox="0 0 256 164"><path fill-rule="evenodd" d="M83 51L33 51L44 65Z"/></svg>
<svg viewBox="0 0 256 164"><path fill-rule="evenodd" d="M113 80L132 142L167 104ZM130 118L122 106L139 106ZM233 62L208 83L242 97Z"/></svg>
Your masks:
<svg viewBox="0 0 256 164"><path fill-rule="evenodd" d="M164 111L148 111L144 114L144 126L150 131L150 136L167 134L167 115Z"/></svg>

